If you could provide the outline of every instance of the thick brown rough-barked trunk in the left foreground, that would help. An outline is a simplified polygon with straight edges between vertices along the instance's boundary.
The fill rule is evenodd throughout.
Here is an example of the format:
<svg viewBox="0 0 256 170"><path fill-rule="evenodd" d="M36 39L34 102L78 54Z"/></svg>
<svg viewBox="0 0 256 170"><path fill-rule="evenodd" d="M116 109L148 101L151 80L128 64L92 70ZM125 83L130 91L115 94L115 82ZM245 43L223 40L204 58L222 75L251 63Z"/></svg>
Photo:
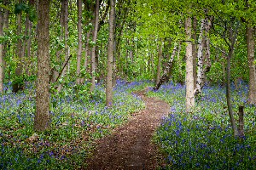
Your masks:
<svg viewBox="0 0 256 170"><path fill-rule="evenodd" d="M38 80L34 129L49 128L49 1L38 2Z"/></svg>

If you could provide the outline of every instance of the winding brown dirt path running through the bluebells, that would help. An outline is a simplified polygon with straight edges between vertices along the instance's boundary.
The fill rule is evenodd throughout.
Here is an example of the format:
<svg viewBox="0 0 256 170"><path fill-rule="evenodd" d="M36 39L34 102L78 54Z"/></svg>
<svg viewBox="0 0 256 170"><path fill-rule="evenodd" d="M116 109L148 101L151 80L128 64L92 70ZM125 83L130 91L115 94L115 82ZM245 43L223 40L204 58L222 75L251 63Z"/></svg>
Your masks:
<svg viewBox="0 0 256 170"><path fill-rule="evenodd" d="M97 142L93 156L87 160L87 169L156 169L161 156L152 144L154 130L162 116L167 116L170 106L164 101L148 98L145 90L138 92L146 109L132 114L125 125Z"/></svg>

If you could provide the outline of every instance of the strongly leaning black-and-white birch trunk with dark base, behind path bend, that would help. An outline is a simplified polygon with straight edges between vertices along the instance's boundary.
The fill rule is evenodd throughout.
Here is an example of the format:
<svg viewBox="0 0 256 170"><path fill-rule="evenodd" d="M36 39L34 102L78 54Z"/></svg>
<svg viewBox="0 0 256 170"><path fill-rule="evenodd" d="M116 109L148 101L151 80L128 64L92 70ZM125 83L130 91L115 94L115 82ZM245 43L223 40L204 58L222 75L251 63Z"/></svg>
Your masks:
<svg viewBox="0 0 256 170"><path fill-rule="evenodd" d="M169 80L169 72L170 70L172 69L172 62L173 62L173 59L174 59L174 56L176 54L176 51L177 51L177 45L175 44L174 45L174 48L172 50L172 56L171 56L171 59L169 59L167 65L166 65L166 69L164 71L164 74L162 75L162 77L160 77L160 81L156 83L156 85L154 86L154 90L158 90L160 88L160 86L164 83L164 82L167 82Z"/></svg>

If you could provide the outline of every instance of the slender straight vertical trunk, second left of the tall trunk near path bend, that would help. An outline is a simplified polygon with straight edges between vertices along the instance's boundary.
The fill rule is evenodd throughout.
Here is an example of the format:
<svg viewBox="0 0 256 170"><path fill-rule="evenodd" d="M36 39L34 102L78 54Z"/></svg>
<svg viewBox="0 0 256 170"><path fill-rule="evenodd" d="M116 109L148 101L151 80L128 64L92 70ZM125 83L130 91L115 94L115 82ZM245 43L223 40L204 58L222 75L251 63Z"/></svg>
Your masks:
<svg viewBox="0 0 256 170"><path fill-rule="evenodd" d="M77 84L81 83L80 79L80 67L81 67L81 54L82 54L82 0L77 0L78 6L78 56L77 56Z"/></svg>

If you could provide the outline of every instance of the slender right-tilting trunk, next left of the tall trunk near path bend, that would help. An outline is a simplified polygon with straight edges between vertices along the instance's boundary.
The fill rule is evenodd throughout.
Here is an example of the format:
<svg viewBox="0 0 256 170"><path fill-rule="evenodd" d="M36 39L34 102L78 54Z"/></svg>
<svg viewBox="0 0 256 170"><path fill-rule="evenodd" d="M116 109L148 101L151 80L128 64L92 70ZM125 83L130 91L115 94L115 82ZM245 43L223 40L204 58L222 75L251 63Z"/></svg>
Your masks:
<svg viewBox="0 0 256 170"><path fill-rule="evenodd" d="M93 36L92 42L94 42L94 46L91 48L91 64L90 64L90 71L91 71L91 85L90 85L90 92L94 91L95 89L95 81L96 81L96 39L98 34L98 26L99 26L99 9L100 3L99 0L96 0L96 7L95 7L95 20L94 20L94 29L93 29Z"/></svg>

